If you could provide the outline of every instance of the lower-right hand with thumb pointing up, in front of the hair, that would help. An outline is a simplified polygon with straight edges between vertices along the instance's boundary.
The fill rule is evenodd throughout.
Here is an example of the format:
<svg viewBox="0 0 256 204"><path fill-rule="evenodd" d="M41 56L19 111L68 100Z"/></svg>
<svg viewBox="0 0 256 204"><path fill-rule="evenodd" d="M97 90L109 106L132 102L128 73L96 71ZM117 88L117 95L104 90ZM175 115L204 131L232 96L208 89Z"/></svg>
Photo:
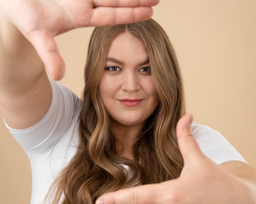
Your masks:
<svg viewBox="0 0 256 204"><path fill-rule="evenodd" d="M179 178L107 193L96 204L254 203L242 180L204 156L191 133L191 121L192 116L185 115L177 124L178 144L184 158Z"/></svg>

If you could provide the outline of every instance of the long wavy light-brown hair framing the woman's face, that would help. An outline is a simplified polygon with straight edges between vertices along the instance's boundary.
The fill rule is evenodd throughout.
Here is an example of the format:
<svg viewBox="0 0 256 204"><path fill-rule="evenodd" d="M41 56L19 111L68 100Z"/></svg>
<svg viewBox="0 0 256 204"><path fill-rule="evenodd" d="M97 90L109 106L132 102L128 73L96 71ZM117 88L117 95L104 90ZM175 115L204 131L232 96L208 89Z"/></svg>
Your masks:
<svg viewBox="0 0 256 204"><path fill-rule="evenodd" d="M98 90L112 39L124 32L144 42L159 98L158 107L133 145L134 160L117 154L110 117ZM179 177L183 159L175 128L185 114L183 83L175 51L162 27L153 19L96 27L90 38L84 78L80 146L49 191L54 194L52 203L92 204L110 191Z"/></svg>

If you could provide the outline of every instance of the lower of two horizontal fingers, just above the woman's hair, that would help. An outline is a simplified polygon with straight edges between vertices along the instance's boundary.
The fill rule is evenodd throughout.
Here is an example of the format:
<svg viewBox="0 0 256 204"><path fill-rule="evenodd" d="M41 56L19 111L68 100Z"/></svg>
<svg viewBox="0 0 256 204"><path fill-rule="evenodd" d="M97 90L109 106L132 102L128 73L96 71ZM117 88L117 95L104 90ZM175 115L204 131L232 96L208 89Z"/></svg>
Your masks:
<svg viewBox="0 0 256 204"><path fill-rule="evenodd" d="M97 7L93 9L90 26L106 26L144 21L152 15L153 9L151 7Z"/></svg>

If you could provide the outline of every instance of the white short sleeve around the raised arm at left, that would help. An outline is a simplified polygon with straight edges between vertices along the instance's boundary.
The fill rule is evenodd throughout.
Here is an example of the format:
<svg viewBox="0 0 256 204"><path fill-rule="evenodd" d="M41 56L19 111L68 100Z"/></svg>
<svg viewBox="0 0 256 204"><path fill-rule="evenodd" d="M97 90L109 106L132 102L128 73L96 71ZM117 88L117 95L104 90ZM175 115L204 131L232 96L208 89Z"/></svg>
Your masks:
<svg viewBox="0 0 256 204"><path fill-rule="evenodd" d="M36 156L47 152L69 129L81 107L81 100L66 86L51 79L52 103L47 114L36 125L17 130L8 127L27 155Z"/></svg>

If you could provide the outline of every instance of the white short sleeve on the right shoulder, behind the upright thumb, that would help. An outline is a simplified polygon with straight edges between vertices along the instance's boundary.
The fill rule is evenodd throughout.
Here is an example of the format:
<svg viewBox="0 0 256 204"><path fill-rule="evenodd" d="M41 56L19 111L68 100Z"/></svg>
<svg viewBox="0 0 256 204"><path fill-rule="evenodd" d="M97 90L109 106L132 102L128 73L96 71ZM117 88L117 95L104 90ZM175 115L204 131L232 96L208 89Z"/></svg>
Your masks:
<svg viewBox="0 0 256 204"><path fill-rule="evenodd" d="M237 160L245 162L239 152L218 131L192 123L192 132L202 152L216 164Z"/></svg>

